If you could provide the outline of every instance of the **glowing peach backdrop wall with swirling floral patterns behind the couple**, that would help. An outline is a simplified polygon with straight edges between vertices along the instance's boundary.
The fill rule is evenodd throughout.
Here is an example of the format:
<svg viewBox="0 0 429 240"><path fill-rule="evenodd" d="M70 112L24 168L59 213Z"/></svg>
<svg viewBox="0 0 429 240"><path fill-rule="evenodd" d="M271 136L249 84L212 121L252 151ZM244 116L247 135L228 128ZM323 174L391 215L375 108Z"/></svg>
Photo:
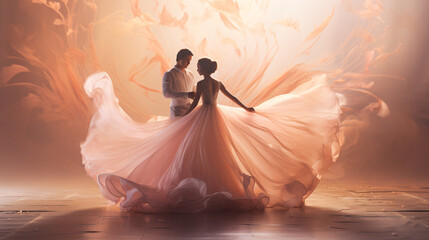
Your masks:
<svg viewBox="0 0 429 240"><path fill-rule="evenodd" d="M8 169L3 176L34 169L83 171L79 143L93 107L82 85L95 71L112 76L120 104L137 121L166 116L162 74L184 47L194 52L194 73L198 58L218 61L214 77L250 105L294 89L291 76L305 81L325 72L344 104L342 155L334 172L377 166L422 171L429 143L429 73L422 67L428 5L424 0L2 1L0 143L1 163ZM405 158L412 164L404 164Z"/></svg>

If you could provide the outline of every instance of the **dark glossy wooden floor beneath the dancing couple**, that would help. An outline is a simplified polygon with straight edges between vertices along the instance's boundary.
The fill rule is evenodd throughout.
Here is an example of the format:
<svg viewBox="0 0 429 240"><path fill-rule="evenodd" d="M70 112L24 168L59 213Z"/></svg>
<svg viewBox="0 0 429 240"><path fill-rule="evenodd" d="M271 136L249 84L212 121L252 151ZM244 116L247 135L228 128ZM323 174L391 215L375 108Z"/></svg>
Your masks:
<svg viewBox="0 0 429 240"><path fill-rule="evenodd" d="M429 183L322 181L306 206L123 213L95 184L0 190L1 239L429 239Z"/></svg>

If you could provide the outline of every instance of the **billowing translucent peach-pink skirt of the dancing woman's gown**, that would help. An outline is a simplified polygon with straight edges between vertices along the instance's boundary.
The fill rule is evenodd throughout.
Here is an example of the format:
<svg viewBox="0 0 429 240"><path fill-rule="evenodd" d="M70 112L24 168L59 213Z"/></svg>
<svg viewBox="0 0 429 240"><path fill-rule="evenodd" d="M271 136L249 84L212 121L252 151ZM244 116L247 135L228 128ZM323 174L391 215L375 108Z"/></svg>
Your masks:
<svg viewBox="0 0 429 240"><path fill-rule="evenodd" d="M88 77L85 90L97 112L81 145L83 163L124 210L300 206L338 156L340 107L323 74L255 113L207 94L208 104L187 116L145 124L121 109L107 73Z"/></svg>

